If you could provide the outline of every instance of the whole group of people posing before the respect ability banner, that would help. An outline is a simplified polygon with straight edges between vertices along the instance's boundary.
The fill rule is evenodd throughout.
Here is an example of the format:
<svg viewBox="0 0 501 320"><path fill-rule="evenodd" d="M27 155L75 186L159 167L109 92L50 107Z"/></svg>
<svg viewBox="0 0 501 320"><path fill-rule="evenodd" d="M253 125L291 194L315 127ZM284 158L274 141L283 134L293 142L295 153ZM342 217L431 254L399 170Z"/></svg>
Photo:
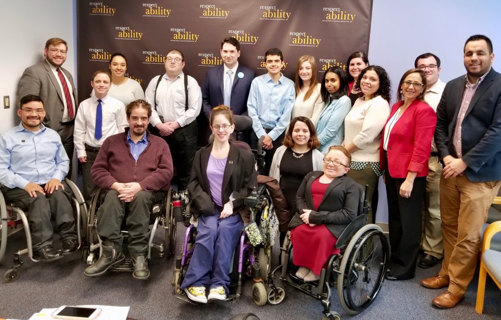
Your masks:
<svg viewBox="0 0 501 320"><path fill-rule="evenodd" d="M436 55L418 56L391 107L389 76L364 52L349 56L347 71L327 69L320 83L315 58L301 56L293 81L281 72L280 49L266 51L267 73L256 76L238 62L240 43L228 37L221 42L223 64L207 71L201 87L183 73L183 53L173 49L165 73L143 93L125 77L126 57L117 53L111 74L96 71L91 97L77 108L73 78L61 67L67 50L60 38L47 41L45 60L20 80L21 124L0 138L0 182L9 201L29 210L36 259L52 261L77 249L64 183L76 148L85 199L96 187L106 191L97 212L103 254L85 275L99 276L124 261L120 226L128 206L133 277L147 279L145 215L170 187L175 168L178 190L190 191L198 215L197 245L181 288L200 303L225 299L243 199L257 185L252 153L232 141L235 116L248 116L252 129L237 138L256 148L264 137L266 173L291 210L286 223L298 278L318 280L337 253L337 237L358 214L359 185L369 186L367 223L375 221L372 199L383 176L391 246L386 279L411 279L416 264L430 268L443 258L439 274L421 284L448 287L432 301L440 308L464 298L501 180L501 74L491 67L486 36L466 40L466 75L447 84L439 79ZM209 134L212 142L197 151L197 141ZM52 246L51 217L61 250ZM285 236L281 232L281 244Z"/></svg>

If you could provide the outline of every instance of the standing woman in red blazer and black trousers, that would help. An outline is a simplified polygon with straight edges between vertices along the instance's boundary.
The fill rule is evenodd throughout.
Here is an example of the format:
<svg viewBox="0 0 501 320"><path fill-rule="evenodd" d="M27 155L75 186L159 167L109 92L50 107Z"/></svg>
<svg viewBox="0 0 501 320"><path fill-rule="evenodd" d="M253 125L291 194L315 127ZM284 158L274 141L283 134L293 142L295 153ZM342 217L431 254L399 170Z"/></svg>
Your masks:
<svg viewBox="0 0 501 320"><path fill-rule="evenodd" d="M398 88L398 102L383 129L380 148L391 246L388 280L414 278L428 158L437 121L433 109L424 102L426 76L422 70L405 72Z"/></svg>

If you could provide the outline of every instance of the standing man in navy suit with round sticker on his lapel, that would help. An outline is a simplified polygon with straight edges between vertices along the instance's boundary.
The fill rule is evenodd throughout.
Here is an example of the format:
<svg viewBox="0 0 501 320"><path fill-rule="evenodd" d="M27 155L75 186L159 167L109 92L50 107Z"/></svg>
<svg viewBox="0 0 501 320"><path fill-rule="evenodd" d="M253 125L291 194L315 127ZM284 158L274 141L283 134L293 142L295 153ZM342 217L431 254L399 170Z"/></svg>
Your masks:
<svg viewBox="0 0 501 320"><path fill-rule="evenodd" d="M206 133L200 134L199 139L203 139L199 141L201 145L206 144L206 139L210 135L208 119L213 107L224 104L231 108L234 115L247 115L250 83L256 77L253 70L238 63L240 42L237 39L224 38L221 41L220 52L224 63L207 70L201 87L203 115L200 113L200 117L204 118L203 121L198 121L198 124L200 125L199 132ZM250 143L250 130L242 134L240 140Z"/></svg>

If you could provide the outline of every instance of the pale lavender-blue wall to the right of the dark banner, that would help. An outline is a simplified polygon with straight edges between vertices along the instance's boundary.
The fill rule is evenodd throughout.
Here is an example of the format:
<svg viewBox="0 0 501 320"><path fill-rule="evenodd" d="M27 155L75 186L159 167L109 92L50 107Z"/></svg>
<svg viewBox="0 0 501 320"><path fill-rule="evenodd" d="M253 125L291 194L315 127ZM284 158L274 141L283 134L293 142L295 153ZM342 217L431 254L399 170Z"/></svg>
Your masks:
<svg viewBox="0 0 501 320"><path fill-rule="evenodd" d="M493 67L501 72L501 1L482 0L374 0L369 43L369 62L388 71L395 95L402 74L414 67L421 53L436 54L442 65L440 78L447 82L466 71L464 41L473 34L492 40Z"/></svg>

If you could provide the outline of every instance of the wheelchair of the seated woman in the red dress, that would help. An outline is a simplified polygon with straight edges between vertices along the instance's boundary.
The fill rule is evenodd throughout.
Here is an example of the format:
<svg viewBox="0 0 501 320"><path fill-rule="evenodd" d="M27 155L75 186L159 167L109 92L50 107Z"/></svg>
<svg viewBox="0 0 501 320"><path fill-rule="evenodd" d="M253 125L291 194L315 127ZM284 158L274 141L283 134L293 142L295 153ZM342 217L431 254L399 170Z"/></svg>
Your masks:
<svg viewBox="0 0 501 320"><path fill-rule="evenodd" d="M359 204L358 216L342 232L336 243L340 253L328 259L322 268L320 279L304 282L296 277L299 267L294 266L294 254L290 232L282 250L282 265L268 277L268 302L280 304L285 299L284 287L288 286L321 302L324 320L341 319L339 313L330 311L331 287L337 286L339 303L349 315L356 315L367 309L379 294L389 258L388 240L381 228L374 224L365 225L369 209L367 186ZM360 186L361 191L362 186Z"/></svg>

